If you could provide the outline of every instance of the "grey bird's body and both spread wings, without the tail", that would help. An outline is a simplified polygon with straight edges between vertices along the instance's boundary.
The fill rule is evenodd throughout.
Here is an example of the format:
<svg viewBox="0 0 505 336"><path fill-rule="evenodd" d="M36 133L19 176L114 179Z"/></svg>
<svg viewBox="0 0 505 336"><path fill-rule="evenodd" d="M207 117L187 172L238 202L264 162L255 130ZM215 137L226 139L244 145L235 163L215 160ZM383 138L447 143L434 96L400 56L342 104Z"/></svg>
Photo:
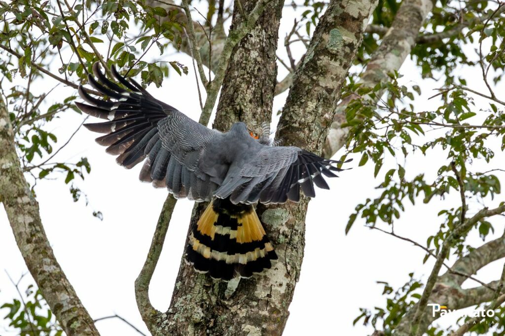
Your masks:
<svg viewBox="0 0 505 336"><path fill-rule="evenodd" d="M298 147L269 146L243 132L221 133L201 125L174 107L151 96L134 80L111 69L122 86L109 80L93 65L89 84L109 100L91 97L79 87L88 103L76 102L84 113L106 119L85 124L96 139L119 155L116 161L131 168L147 158L140 180L167 187L177 198L209 201L230 198L232 203L297 202L300 189L314 197L314 185L329 189L323 175L336 177L335 160L324 159ZM234 150L242 144L244 151Z"/></svg>

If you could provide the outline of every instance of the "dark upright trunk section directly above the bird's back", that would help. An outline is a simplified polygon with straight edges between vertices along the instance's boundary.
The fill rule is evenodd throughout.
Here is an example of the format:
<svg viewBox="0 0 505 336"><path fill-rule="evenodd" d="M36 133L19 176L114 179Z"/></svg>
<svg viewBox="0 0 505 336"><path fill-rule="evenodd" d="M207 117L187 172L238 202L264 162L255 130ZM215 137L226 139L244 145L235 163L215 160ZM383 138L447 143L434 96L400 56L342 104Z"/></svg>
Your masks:
<svg viewBox="0 0 505 336"><path fill-rule="evenodd" d="M243 2L244 12L252 10L255 3ZM275 53L283 4L284 1L274 1L256 27L233 50L221 88L214 128L228 130L234 123L242 121L258 133L262 122L270 123L277 78ZM232 22L240 20L240 11L233 11Z"/></svg>

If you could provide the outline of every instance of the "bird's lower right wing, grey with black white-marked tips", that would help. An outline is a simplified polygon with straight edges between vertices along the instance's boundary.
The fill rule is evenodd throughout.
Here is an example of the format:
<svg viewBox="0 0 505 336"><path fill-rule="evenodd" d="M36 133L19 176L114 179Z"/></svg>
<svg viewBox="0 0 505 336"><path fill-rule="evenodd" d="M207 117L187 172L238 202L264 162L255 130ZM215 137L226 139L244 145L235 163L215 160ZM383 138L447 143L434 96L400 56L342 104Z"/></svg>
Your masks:
<svg viewBox="0 0 505 336"><path fill-rule="evenodd" d="M341 162L298 147L263 146L240 170L228 172L216 196L235 204L298 202L300 188L308 197L316 196L314 184L330 189L323 175L337 177L333 172L342 171L333 163Z"/></svg>

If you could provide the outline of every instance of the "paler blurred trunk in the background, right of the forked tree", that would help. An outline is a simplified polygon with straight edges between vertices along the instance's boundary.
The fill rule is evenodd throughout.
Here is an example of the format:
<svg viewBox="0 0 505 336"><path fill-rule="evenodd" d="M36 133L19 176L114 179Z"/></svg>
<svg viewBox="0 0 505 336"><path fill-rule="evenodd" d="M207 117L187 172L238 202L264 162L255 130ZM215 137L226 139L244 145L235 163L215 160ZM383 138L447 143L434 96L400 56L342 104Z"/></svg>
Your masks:
<svg viewBox="0 0 505 336"><path fill-rule="evenodd" d="M362 74L359 83L362 87L373 88L388 81L389 73L398 71L416 43L419 30L433 7L431 0L405 0L384 35L381 44L372 54L372 58ZM376 93L377 97L381 92ZM350 101L358 98L351 94L345 97L335 109L331 129L326 138L324 156L331 157L345 143L348 129L340 128L345 122L345 109ZM366 99L370 99L365 97ZM378 99L378 98L377 98ZM375 101L370 101L372 104Z"/></svg>

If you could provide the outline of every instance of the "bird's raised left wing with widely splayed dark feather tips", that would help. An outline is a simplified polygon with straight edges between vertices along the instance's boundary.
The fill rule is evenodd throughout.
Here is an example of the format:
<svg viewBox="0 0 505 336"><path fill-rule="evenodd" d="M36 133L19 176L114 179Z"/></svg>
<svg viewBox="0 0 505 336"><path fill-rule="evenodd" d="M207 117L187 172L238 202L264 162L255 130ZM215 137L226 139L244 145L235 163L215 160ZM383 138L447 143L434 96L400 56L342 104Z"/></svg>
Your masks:
<svg viewBox="0 0 505 336"><path fill-rule="evenodd" d="M198 160L212 139L221 133L201 125L174 107L151 96L134 80L126 80L116 69L112 74L122 86L109 80L95 63L89 84L109 100L93 98L79 87L88 103L76 102L84 113L106 119L85 124L107 152L119 155L116 161L128 169L144 162L140 180L156 187L167 187L177 198L209 201L219 187L212 176L198 168Z"/></svg>

